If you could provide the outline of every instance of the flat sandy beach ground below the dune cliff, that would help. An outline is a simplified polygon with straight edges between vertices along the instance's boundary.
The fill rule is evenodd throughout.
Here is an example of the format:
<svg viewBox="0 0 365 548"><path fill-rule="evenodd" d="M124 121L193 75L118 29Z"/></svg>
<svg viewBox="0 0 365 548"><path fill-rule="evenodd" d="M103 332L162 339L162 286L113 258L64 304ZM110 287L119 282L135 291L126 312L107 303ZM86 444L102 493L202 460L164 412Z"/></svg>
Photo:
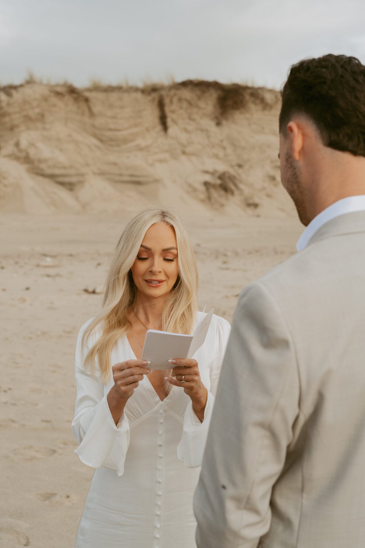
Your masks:
<svg viewBox="0 0 365 548"><path fill-rule="evenodd" d="M124 220L1 219L4 548L73 546L93 472L73 453L74 349L79 328L102 299L84 288L103 284ZM189 229L200 272L200 310L215 306L229 321L241 288L294 253L302 230L296 219L251 217L192 220Z"/></svg>

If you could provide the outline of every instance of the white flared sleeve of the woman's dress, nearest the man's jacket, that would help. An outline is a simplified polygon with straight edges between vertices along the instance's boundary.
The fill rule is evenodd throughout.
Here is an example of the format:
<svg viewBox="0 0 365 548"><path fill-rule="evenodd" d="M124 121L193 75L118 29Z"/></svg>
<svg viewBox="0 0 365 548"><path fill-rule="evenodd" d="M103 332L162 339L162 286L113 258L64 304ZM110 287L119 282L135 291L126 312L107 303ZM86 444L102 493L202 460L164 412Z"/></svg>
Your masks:
<svg viewBox="0 0 365 548"><path fill-rule="evenodd" d="M206 438L212 416L212 410L217 392L219 373L221 372L225 347L227 346L230 333L230 324L223 318L216 317L216 346L212 367L210 368L210 390L204 410L204 421L202 423L196 416L192 402L190 402L184 413L183 432L181 441L177 446L177 456L188 468L201 466Z"/></svg>

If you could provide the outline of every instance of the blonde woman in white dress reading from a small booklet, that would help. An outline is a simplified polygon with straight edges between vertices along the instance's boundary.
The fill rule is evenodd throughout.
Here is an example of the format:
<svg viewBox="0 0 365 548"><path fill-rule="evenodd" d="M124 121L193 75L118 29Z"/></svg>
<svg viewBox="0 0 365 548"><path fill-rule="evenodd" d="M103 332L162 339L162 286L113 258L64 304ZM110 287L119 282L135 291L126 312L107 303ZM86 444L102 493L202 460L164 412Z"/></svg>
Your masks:
<svg viewBox="0 0 365 548"><path fill-rule="evenodd" d="M106 281L103 308L76 350L76 453L97 469L77 548L193 548L193 493L228 341L213 316L194 359L151 371L147 329L193 332L198 272L182 221L151 208L126 226Z"/></svg>

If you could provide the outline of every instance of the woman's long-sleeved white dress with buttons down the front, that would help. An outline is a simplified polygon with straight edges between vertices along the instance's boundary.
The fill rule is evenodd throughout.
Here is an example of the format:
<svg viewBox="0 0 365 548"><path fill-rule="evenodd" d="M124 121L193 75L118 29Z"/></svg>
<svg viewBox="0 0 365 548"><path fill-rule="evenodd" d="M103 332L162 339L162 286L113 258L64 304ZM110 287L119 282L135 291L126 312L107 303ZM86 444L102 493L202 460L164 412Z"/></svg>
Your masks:
<svg viewBox="0 0 365 548"><path fill-rule="evenodd" d="M182 388L173 386L161 401L145 375L115 426L107 403L114 384L112 375L103 385L97 367L92 379L82 366L81 339L88 323L81 328L77 342L72 431L79 442L75 453L97 470L75 546L195 548L193 493L230 325L213 316L205 343L194 355L208 389L202 423ZM97 336L90 336L88 347ZM127 359L135 359L135 355L123 336L114 347L112 363Z"/></svg>

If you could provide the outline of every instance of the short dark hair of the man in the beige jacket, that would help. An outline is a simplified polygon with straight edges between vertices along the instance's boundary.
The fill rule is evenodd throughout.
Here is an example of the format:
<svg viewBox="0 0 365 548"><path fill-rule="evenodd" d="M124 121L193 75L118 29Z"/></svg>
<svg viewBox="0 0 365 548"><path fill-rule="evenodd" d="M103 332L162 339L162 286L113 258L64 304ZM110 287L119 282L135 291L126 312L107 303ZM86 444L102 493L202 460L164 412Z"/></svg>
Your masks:
<svg viewBox="0 0 365 548"><path fill-rule="evenodd" d="M294 114L303 114L324 145L365 156L365 66L358 59L328 54L299 61L281 95L281 133Z"/></svg>

